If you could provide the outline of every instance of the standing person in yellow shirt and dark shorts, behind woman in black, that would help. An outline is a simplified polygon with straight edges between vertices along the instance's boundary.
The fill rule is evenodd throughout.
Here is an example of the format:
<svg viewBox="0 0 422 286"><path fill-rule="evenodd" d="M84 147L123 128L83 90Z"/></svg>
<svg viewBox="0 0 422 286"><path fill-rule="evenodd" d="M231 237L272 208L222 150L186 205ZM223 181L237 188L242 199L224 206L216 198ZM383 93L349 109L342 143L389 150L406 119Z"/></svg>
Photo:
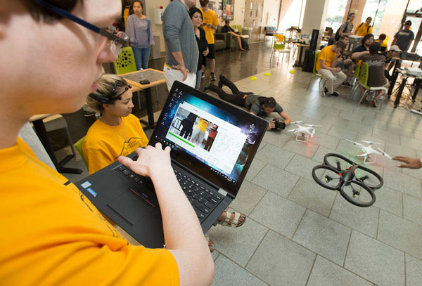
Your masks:
<svg viewBox="0 0 422 286"><path fill-rule="evenodd" d="M219 25L217 14L208 8L209 0L199 0L200 11L203 13L203 30L205 31L205 38L208 42L208 54L207 58L210 60L210 72L211 80L215 81L215 40L214 32L217 30ZM203 74L205 72L205 67L207 66L206 58L203 59ZM203 77L203 76L202 76Z"/></svg>

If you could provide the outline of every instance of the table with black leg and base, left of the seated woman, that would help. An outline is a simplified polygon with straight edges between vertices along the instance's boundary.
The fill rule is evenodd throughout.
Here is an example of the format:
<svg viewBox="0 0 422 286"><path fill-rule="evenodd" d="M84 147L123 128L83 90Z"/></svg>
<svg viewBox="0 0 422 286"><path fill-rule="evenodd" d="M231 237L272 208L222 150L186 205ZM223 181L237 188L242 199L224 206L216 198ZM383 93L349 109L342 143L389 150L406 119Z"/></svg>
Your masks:
<svg viewBox="0 0 422 286"><path fill-rule="evenodd" d="M46 131L46 126L44 126L44 122L42 121L42 119L49 117L50 115L51 114L33 115L30 117L29 122L34 124L35 133L37 134L39 141L41 141L42 145L46 149L47 154L49 154L51 161L59 173L82 174L81 169L63 167L64 164L75 157L74 155L68 155L65 157L65 159L58 162L56 154L54 154L53 146L51 146L50 138Z"/></svg>

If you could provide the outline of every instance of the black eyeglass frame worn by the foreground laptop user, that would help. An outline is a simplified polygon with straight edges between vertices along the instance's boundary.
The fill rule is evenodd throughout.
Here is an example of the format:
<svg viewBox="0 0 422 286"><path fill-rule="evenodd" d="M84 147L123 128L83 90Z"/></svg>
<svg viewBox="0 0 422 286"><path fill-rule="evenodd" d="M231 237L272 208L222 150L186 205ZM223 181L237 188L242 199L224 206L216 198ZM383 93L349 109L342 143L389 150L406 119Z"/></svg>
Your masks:
<svg viewBox="0 0 422 286"><path fill-rule="evenodd" d="M113 33L108 32L105 29L101 29L100 27L97 27L96 25L91 24L90 22L87 22L85 20L82 20L81 18L72 15L71 13L69 13L68 11L65 11L62 8L59 8L57 6L54 6L53 4L50 4L49 2L46 2L44 0L32 0L35 3L39 4L40 6L48 9L51 12L54 12L64 18L68 18L69 20L76 22L79 25L82 25L84 27L86 27L87 29L96 32L98 34L101 34L101 36L106 37L107 39L109 39L110 41L118 41L120 44L122 44L122 46L125 46L128 41L125 39L122 39L118 36L116 36Z"/></svg>

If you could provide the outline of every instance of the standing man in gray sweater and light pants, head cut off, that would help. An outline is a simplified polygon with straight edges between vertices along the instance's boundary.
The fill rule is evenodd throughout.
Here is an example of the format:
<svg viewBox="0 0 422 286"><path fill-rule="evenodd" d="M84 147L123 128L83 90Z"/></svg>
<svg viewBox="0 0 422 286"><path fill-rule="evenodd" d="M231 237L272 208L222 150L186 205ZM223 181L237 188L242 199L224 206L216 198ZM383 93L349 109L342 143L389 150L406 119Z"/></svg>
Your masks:
<svg viewBox="0 0 422 286"><path fill-rule="evenodd" d="M188 8L196 6L196 0L173 0L162 14L162 32L165 39L164 77L167 88L178 80L195 87L198 67L198 44Z"/></svg>

